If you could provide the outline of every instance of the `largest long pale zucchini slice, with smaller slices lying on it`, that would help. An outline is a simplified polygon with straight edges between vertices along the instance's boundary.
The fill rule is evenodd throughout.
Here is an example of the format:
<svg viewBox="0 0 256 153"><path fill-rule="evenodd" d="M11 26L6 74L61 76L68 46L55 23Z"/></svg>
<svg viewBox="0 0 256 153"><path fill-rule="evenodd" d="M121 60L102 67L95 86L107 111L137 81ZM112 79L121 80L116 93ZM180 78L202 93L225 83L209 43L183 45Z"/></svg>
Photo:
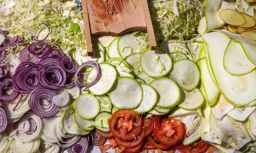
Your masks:
<svg viewBox="0 0 256 153"><path fill-rule="evenodd" d="M238 107L246 106L256 100L255 70L247 75L234 76L224 69L223 56L230 38L219 32L203 34L202 38L207 46L209 64L214 78L225 98Z"/></svg>

